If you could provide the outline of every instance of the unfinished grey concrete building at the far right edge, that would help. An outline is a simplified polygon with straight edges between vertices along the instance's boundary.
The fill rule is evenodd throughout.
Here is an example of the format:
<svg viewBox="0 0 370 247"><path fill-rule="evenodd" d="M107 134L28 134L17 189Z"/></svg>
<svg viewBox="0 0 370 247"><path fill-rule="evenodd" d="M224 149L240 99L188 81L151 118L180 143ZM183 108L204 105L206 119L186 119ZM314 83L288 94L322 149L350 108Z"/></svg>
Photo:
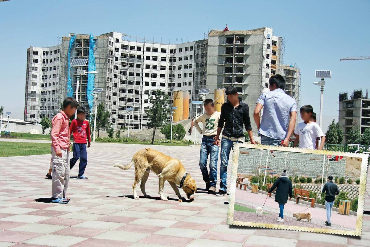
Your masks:
<svg viewBox="0 0 370 247"><path fill-rule="evenodd" d="M348 143L349 131L353 125L360 127L361 134L370 128L370 99L362 89L357 89L348 97L348 92L339 94L339 125L343 131L343 143Z"/></svg>

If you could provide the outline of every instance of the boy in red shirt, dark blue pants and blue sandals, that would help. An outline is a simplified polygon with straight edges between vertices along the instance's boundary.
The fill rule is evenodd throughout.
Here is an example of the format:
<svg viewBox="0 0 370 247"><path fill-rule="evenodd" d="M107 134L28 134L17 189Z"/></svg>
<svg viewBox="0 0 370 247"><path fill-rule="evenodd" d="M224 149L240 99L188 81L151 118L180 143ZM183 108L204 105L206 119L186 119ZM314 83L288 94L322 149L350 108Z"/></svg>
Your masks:
<svg viewBox="0 0 370 247"><path fill-rule="evenodd" d="M70 132L73 133L73 158L70 160L71 169L78 159L80 159L80 168L78 169L78 179L87 179L84 175L87 165L87 148L91 145L90 125L85 120L85 108L77 109L77 119L73 119L70 126ZM86 145L87 139L87 145Z"/></svg>

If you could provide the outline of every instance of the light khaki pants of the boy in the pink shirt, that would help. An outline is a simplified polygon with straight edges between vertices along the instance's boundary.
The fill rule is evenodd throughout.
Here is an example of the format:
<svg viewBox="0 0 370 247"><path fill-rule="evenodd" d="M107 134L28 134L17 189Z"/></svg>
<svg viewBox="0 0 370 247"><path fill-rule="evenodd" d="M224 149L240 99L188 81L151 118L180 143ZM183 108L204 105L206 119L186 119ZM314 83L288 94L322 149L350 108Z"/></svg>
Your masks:
<svg viewBox="0 0 370 247"><path fill-rule="evenodd" d="M62 157L58 157L53 147L51 147L51 162L53 172L51 173L51 189L54 198L64 198L68 189L70 176L69 150L60 149Z"/></svg>

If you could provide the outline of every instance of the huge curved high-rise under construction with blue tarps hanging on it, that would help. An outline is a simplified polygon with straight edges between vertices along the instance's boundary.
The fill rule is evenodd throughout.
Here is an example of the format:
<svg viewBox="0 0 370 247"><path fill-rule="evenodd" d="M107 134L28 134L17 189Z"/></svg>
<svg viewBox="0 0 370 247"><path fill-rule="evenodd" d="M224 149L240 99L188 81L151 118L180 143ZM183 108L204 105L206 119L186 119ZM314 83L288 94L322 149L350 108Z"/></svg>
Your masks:
<svg viewBox="0 0 370 247"><path fill-rule="evenodd" d="M287 79L286 92L299 101L299 70L280 66L282 47L282 38L268 27L211 30L203 40L179 44L117 32L98 36L71 33L57 46L28 48L24 119L52 117L65 97L76 94L90 112L95 104L92 89L102 88L97 102L111 113L113 128L127 126L130 118L130 128L142 129L148 124L149 95L158 89L170 95L169 104L179 106L181 102L174 110L174 121L180 121L202 112L191 104L202 100L199 89L210 89L203 95L216 99L217 105L225 102L224 91L218 89L232 85L238 88L240 99L253 107L261 92L268 91L268 79L280 71ZM88 62L72 66L74 58ZM82 75L77 70L98 74ZM174 94L182 99L176 100ZM250 113L253 119L253 111Z"/></svg>

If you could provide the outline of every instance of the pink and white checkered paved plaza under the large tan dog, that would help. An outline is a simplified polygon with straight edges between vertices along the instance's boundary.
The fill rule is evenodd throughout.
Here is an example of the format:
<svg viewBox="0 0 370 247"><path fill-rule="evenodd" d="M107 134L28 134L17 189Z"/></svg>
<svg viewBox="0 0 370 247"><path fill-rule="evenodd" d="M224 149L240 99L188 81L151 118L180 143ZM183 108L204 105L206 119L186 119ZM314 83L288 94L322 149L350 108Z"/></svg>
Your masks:
<svg viewBox="0 0 370 247"><path fill-rule="evenodd" d="M164 194L170 200L159 200L154 173L146 186L152 198L132 198L134 168L124 171L113 165L127 164L145 147L182 161L197 182L194 202L178 202L168 183ZM89 179L70 179L68 204L50 203L51 180L45 179L50 155L0 158L0 247L370 246L370 215L364 216L361 238L228 226L228 196L202 190L199 146L92 143L88 152ZM76 164L71 176L77 172Z"/></svg>

